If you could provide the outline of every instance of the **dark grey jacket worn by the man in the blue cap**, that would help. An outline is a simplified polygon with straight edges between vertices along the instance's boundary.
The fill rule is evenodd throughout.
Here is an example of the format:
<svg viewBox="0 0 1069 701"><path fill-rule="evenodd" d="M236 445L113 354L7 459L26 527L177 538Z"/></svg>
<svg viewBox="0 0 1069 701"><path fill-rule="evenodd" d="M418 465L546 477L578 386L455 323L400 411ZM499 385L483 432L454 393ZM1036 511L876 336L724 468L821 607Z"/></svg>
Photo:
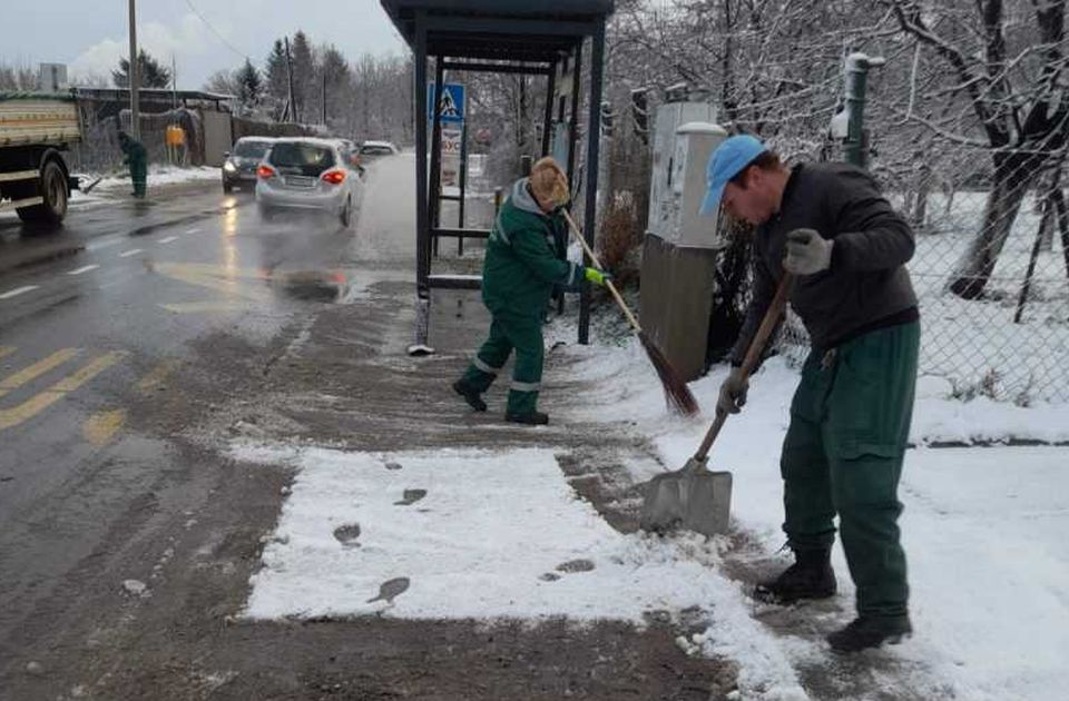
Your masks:
<svg viewBox="0 0 1069 701"><path fill-rule="evenodd" d="M916 318L916 295L905 263L913 230L880 194L867 172L846 164L795 166L779 211L757 228L754 297L732 361L746 347L783 277L788 231L816 229L835 240L827 270L800 277L791 307L816 349L833 348L870 328Z"/></svg>

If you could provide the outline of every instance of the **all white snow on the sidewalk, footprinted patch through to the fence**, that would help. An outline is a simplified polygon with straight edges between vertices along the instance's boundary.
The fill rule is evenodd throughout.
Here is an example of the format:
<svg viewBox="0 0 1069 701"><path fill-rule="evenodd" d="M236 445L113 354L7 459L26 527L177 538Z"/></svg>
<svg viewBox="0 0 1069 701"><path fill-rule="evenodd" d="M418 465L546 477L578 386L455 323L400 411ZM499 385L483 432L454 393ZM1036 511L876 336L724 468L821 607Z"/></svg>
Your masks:
<svg viewBox="0 0 1069 701"><path fill-rule="evenodd" d="M567 393L581 396L581 406L552 407L555 421L587 431L630 425L665 467L695 450L708 417L666 413L636 343L555 353L563 361L550 368L547 403L565 394L562 385L582 387ZM723 375L693 384L707 411ZM620 534L576 496L552 446L371 454L237 444L239 460L297 471L246 615L641 625L668 612L690 630L706 621L679 645L735 662L742 699L1061 698L1069 684L1069 448L930 445L1069 441L1069 408L962 403L945 396L945 383L922 379L911 436L919 447L908 454L901 490L916 632L843 660L823 642L853 615L841 551L840 596L790 612L796 625L777 623L774 608L756 604L748 584L728 574L752 565L755 551L769 566L783 543L777 462L796 382L784 361L769 361L746 411L714 446L713 464L735 475L742 539ZM635 482L656 470L641 456L628 466Z"/></svg>

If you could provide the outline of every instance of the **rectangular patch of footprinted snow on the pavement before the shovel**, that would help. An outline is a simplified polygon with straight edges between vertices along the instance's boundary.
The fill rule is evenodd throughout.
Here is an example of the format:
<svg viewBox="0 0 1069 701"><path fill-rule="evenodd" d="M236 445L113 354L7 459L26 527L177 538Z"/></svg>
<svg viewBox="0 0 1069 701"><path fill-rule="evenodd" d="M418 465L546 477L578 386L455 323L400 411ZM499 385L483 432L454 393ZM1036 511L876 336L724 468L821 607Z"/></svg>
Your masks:
<svg viewBox="0 0 1069 701"><path fill-rule="evenodd" d="M739 585L710 569L715 543L614 531L576 496L550 451L243 445L234 456L298 468L252 579L249 618L563 615L641 624L648 612L697 606L718 621L700 643L744 661L744 687L767 699L805 698ZM413 490L425 495L412 502Z"/></svg>

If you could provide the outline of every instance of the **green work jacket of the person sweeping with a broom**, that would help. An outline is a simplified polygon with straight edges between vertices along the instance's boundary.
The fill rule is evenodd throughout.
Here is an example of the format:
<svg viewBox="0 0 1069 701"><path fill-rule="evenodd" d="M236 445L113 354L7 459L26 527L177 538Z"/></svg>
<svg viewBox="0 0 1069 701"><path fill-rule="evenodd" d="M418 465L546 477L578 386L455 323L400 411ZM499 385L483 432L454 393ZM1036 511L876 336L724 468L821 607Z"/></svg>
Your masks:
<svg viewBox="0 0 1069 701"><path fill-rule="evenodd" d="M555 234L566 234L559 214L547 215L517 180L501 206L487 243L482 264L482 300L493 314L541 318L553 285L572 287L582 279L582 266L557 257Z"/></svg>

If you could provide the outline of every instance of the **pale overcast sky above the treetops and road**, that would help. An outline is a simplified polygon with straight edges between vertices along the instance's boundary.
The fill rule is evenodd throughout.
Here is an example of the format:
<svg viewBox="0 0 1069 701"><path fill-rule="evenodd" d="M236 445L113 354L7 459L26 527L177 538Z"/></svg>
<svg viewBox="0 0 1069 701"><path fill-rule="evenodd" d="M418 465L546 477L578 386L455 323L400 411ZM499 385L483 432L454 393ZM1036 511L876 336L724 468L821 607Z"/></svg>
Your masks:
<svg viewBox="0 0 1069 701"><path fill-rule="evenodd" d="M129 51L127 0L2 3L0 61L35 67L39 62L67 63L72 76L109 77L119 57ZM180 89L204 87L209 75L236 68L246 53L263 68L274 40L297 29L316 46L334 43L350 60L362 53L408 51L379 0L137 2L138 43L168 68L174 55Z"/></svg>

